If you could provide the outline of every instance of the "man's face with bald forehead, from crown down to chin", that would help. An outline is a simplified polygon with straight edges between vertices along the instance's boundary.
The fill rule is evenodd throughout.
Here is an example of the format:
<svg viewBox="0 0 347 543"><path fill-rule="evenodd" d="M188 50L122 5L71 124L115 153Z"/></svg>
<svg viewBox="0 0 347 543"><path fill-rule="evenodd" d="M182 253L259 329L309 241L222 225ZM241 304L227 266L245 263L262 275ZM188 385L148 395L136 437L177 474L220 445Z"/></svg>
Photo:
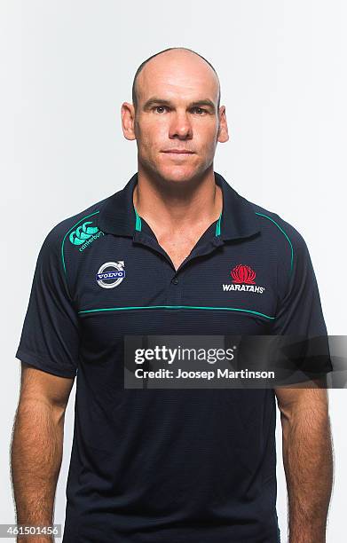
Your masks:
<svg viewBox="0 0 347 543"><path fill-rule="evenodd" d="M218 139L219 115L225 127L226 120L225 108L217 111L213 70L196 55L163 53L138 75L137 90L139 164L170 181L201 175L213 162L217 141L227 139Z"/></svg>

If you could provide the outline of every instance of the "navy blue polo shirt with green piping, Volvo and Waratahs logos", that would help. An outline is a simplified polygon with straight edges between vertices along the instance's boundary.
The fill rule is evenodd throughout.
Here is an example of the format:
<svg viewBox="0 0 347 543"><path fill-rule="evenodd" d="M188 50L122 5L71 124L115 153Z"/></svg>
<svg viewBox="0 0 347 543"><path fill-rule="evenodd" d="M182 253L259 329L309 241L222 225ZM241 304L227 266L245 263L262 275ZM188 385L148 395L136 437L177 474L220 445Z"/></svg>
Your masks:
<svg viewBox="0 0 347 543"><path fill-rule="evenodd" d="M129 390L125 334L327 334L303 237L215 172L175 270L138 174L43 241L16 357L76 376L64 543L277 543L273 390Z"/></svg>

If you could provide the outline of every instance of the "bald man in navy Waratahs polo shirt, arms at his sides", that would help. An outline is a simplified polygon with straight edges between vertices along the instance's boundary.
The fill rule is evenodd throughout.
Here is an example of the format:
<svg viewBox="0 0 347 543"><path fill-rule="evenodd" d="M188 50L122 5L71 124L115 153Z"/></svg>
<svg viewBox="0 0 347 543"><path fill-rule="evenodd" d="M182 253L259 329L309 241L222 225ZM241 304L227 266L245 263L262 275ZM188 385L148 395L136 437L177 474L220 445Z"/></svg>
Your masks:
<svg viewBox="0 0 347 543"><path fill-rule="evenodd" d="M280 541L275 396L290 543L325 541L326 390L123 383L128 334L327 334L301 235L214 171L228 140L219 101L194 51L147 59L122 104L138 172L43 242L16 354L12 476L18 522L50 524L77 374L64 543Z"/></svg>

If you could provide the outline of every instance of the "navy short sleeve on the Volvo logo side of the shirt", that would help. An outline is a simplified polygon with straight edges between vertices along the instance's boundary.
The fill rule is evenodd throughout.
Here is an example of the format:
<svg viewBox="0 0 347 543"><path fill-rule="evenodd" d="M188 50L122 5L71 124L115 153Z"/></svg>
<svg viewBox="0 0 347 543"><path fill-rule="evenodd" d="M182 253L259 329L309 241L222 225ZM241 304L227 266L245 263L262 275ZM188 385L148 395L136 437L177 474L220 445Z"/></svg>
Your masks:
<svg viewBox="0 0 347 543"><path fill-rule="evenodd" d="M61 261L57 226L43 241L16 358L50 374L75 377L79 330Z"/></svg>

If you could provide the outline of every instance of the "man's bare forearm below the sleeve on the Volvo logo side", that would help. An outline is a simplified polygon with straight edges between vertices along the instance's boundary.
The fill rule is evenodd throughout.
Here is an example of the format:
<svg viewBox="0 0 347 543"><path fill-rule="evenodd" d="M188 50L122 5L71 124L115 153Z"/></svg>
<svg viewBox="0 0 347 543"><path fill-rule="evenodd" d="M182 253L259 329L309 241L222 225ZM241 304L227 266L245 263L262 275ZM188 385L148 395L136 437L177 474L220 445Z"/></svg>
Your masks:
<svg viewBox="0 0 347 543"><path fill-rule="evenodd" d="M17 523L51 525L61 466L64 417L74 379L21 363L11 465ZM32 543L36 538L29 539ZM37 538L46 543L51 538ZM18 542L28 539L18 538Z"/></svg>

